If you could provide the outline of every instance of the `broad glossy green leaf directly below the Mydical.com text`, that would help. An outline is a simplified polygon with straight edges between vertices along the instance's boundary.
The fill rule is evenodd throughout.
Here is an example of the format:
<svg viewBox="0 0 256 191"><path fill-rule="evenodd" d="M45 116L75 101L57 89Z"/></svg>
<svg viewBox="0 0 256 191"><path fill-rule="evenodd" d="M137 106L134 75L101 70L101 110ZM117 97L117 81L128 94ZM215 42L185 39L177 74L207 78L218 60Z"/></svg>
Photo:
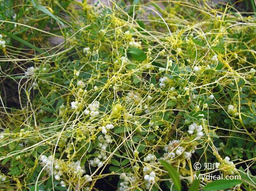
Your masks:
<svg viewBox="0 0 256 191"><path fill-rule="evenodd" d="M241 180L214 180L204 186L203 190L223 190L241 183Z"/></svg>

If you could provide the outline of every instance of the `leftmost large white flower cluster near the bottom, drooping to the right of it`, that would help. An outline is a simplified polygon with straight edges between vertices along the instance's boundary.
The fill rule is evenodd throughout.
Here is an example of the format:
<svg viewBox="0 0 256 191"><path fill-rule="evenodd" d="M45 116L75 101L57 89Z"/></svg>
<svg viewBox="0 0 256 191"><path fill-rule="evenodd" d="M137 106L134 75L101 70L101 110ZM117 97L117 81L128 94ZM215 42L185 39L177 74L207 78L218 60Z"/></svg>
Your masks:
<svg viewBox="0 0 256 191"><path fill-rule="evenodd" d="M52 174L52 160L53 160L53 156L45 156L45 155L41 155L39 157L39 160L41 160L41 166L45 166L45 171L48 175L51 175ZM63 175L63 172L62 172L62 161L61 160L57 160L57 159L54 159L54 162L53 162L53 175L54 175L54 178L55 180L60 180L60 177L61 175Z"/></svg>

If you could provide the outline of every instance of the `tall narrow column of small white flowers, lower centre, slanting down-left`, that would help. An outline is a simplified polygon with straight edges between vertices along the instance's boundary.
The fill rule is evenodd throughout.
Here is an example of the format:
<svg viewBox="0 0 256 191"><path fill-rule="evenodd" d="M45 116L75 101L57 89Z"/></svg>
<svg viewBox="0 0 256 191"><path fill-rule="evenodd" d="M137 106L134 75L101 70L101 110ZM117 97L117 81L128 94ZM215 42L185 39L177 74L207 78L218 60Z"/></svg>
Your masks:
<svg viewBox="0 0 256 191"><path fill-rule="evenodd" d="M98 153L99 155L95 157L93 160L90 160L90 165L91 166L101 166L102 165L102 160L106 160L107 154L106 150L108 147L108 144L111 144L113 140L111 139L110 135L105 135L104 137L102 135L98 136L98 148L101 149L102 151L96 151L95 153Z"/></svg>

